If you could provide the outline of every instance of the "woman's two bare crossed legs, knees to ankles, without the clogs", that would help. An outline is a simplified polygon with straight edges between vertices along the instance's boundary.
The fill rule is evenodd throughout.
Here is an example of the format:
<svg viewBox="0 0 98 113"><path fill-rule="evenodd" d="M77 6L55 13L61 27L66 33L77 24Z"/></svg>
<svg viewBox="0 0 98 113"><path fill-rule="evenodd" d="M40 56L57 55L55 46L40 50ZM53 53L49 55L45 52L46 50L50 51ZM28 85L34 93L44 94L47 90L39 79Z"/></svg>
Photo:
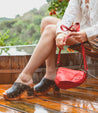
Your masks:
<svg viewBox="0 0 98 113"><path fill-rule="evenodd" d="M54 19L54 24L53 24ZM46 78L54 79L55 77L55 32L57 18L47 17L41 23L41 38L35 48L28 64L19 75L16 82L27 85L32 84L32 74L46 60ZM57 19L58 21L59 19ZM52 24L51 24L52 23ZM53 77L54 75L54 77Z"/></svg>

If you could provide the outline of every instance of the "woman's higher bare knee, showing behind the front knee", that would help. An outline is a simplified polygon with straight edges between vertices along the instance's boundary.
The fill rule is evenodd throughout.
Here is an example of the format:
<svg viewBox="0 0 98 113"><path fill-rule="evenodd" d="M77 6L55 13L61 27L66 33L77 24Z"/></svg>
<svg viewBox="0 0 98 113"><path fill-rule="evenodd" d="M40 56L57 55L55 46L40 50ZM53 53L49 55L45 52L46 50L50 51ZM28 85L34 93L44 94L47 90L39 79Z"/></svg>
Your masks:
<svg viewBox="0 0 98 113"><path fill-rule="evenodd" d="M51 25L51 24L56 25L59 20L60 19L58 19L56 17L51 17L51 16L47 16L47 17L43 18L42 22L41 22L41 33L44 31L46 26Z"/></svg>

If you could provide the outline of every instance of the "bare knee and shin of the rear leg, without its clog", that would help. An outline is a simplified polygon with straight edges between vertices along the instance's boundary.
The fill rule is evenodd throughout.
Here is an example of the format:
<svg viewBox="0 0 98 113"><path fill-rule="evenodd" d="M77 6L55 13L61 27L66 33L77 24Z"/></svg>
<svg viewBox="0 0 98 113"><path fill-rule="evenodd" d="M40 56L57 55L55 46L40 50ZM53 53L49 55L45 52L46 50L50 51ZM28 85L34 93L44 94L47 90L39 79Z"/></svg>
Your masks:
<svg viewBox="0 0 98 113"><path fill-rule="evenodd" d="M56 25L60 19L56 17L45 17L41 23L41 33L43 33L44 29L48 25ZM56 76L56 65L55 65L55 54L56 54L56 45L54 44L53 49L46 59L46 74L45 78L50 80L54 80Z"/></svg>

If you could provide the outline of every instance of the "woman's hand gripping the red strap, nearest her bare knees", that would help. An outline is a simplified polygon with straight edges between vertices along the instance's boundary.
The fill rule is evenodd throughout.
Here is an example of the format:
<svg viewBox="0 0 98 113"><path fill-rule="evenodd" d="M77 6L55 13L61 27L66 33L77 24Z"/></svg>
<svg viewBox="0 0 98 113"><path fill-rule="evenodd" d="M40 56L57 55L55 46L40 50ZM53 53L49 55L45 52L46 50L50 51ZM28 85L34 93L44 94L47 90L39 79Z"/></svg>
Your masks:
<svg viewBox="0 0 98 113"><path fill-rule="evenodd" d="M63 47L66 45L66 41L64 41L64 39L66 38L66 34L64 33L59 33L57 34L56 37L56 46L60 49L63 49Z"/></svg>

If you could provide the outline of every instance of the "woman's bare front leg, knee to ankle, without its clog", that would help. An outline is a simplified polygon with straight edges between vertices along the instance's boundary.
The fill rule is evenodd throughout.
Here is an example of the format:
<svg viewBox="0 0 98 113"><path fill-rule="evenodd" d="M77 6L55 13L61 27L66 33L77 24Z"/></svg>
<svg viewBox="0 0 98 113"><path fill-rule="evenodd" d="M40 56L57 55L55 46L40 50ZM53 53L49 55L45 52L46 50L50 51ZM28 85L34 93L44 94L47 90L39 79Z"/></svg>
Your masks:
<svg viewBox="0 0 98 113"><path fill-rule="evenodd" d="M42 33L41 39L35 48L28 64L16 80L27 85L32 84L32 74L48 58L55 47L55 25L48 25ZM55 70L54 70L55 71Z"/></svg>

